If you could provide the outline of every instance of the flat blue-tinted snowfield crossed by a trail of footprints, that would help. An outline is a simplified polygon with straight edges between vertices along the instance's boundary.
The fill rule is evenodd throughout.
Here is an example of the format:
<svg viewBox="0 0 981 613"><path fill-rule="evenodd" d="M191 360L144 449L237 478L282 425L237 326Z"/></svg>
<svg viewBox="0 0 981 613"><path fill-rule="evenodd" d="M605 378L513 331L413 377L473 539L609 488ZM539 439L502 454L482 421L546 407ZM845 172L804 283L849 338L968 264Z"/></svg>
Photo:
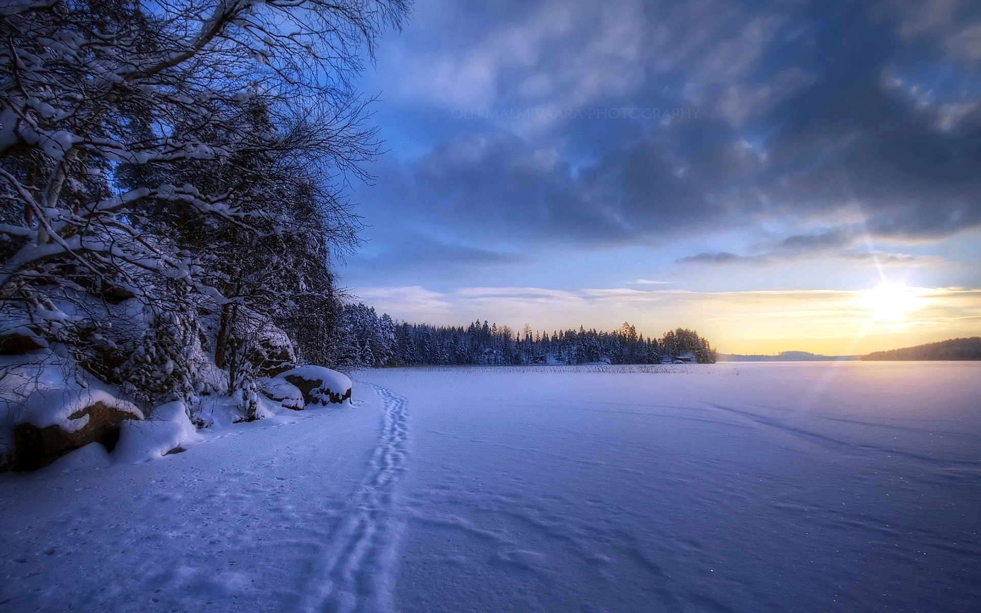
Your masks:
<svg viewBox="0 0 981 613"><path fill-rule="evenodd" d="M602 370L362 372L0 476L0 609L981 611L981 364Z"/></svg>

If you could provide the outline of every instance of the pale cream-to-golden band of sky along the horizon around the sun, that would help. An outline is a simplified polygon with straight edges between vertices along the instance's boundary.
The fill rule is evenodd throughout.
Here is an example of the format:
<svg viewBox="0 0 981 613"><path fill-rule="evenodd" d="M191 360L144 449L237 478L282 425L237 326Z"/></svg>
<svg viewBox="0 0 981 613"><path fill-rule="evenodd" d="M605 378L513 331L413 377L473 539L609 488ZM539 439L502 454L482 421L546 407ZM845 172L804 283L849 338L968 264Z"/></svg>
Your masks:
<svg viewBox="0 0 981 613"><path fill-rule="evenodd" d="M645 335L692 328L722 353L800 350L826 355L981 335L981 289L882 285L867 290L698 292L632 288L566 291L538 287L420 286L367 290L380 313L416 323L465 326L485 314L513 330L613 330L624 321ZM591 325L592 324L592 325Z"/></svg>

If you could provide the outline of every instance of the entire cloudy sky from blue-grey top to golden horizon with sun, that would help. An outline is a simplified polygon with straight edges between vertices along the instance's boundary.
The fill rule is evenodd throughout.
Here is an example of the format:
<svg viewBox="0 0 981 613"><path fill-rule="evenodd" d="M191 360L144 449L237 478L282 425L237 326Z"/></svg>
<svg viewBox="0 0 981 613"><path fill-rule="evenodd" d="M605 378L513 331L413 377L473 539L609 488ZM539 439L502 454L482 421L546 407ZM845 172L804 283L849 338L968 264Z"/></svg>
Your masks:
<svg viewBox="0 0 981 613"><path fill-rule="evenodd" d="M726 353L981 334L981 3L417 0L341 284Z"/></svg>

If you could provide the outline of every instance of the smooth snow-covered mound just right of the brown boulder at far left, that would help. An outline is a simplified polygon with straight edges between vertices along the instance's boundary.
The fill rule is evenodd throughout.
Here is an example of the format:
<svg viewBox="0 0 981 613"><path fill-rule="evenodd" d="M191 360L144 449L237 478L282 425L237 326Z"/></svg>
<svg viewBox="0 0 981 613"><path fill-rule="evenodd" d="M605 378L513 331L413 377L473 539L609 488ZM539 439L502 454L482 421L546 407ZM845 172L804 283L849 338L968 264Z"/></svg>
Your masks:
<svg viewBox="0 0 981 613"><path fill-rule="evenodd" d="M124 422L113 457L126 464L149 462L180 453L197 438L197 429L187 418L183 402L168 402L154 409L144 421Z"/></svg>

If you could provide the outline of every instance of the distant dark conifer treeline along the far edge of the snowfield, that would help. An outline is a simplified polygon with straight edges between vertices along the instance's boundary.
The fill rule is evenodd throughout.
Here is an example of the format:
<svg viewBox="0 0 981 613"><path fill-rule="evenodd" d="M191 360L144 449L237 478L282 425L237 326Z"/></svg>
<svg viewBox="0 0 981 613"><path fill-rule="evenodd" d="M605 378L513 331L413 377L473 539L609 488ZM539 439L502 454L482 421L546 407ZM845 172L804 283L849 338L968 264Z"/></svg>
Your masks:
<svg viewBox="0 0 981 613"><path fill-rule="evenodd" d="M485 321L464 327L396 323L374 308L349 304L342 315L345 366L508 364L712 364L715 350L691 330L645 337L625 323L614 332L586 330L514 332Z"/></svg>

